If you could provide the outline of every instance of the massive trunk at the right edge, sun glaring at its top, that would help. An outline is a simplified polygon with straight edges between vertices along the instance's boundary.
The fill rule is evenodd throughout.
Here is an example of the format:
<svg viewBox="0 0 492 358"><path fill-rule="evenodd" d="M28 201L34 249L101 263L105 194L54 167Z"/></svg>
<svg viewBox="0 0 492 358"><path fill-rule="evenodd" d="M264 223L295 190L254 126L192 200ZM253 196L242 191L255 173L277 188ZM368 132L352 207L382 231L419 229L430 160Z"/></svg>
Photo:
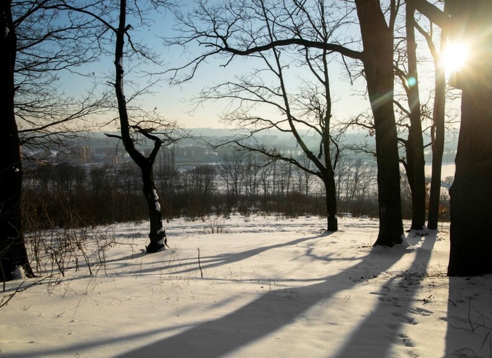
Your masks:
<svg viewBox="0 0 492 358"><path fill-rule="evenodd" d="M450 195L449 276L492 273L492 33L489 0L446 0L453 29L473 48L461 72L461 127ZM477 39L480 39L479 41Z"/></svg>

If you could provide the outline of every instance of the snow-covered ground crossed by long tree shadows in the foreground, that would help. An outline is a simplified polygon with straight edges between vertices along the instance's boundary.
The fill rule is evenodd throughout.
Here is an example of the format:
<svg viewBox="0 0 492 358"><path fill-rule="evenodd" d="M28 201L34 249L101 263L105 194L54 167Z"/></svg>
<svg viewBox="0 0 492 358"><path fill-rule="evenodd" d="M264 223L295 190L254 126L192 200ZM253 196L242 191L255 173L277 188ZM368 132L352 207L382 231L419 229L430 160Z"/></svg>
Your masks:
<svg viewBox="0 0 492 358"><path fill-rule="evenodd" d="M46 277L0 308L0 355L492 354L491 276L445 276L448 225L395 248L371 246L374 219L325 226L314 216L178 219L166 228L171 249L145 254L148 223L116 224L105 270Z"/></svg>

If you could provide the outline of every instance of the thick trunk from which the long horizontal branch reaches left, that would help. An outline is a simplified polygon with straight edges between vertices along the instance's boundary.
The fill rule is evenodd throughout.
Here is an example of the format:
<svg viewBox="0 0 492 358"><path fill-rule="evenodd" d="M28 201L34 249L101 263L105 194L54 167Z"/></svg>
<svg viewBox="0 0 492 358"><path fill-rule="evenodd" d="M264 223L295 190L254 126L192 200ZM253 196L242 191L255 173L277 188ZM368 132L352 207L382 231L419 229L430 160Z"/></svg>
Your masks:
<svg viewBox="0 0 492 358"><path fill-rule="evenodd" d="M379 234L375 245L402 242L400 167L393 111L393 33L386 25L379 1L356 0L367 91L376 132Z"/></svg>

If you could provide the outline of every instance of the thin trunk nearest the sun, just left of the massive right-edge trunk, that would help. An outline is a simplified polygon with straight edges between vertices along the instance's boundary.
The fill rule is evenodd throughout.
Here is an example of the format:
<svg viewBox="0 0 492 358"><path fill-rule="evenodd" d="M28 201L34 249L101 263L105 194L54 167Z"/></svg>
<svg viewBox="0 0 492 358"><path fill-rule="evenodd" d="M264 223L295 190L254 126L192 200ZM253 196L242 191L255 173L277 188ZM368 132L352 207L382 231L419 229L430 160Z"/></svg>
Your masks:
<svg viewBox="0 0 492 358"><path fill-rule="evenodd" d="M441 35L441 50L445 36ZM441 199L441 166L442 154L444 152L444 108L446 103L446 80L444 77L444 69L440 64L440 59L434 59L435 67L435 86L434 95L434 113L432 116L432 128L430 129L430 138L432 141L432 177L430 178L430 194L429 194L429 217L427 228L437 230L439 222L439 203Z"/></svg>

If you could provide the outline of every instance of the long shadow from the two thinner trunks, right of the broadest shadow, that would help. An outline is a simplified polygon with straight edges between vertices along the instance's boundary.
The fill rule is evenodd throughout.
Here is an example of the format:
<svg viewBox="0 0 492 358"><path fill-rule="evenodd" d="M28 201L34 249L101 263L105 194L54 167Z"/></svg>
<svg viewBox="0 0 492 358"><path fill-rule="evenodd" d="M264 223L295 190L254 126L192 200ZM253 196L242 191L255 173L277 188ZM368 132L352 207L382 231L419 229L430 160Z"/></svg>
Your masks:
<svg viewBox="0 0 492 358"><path fill-rule="evenodd" d="M411 238L408 238L408 241L411 241ZM409 269L401 277L392 277L382 286L378 295L379 303L347 340L337 357L361 356L361 352L363 355L374 357L394 356L391 348L395 344L403 344L412 349L412 339L406 336L403 328L407 324L416 324L413 315L425 314L426 310L413 309L411 306L420 289L420 281L425 276L435 242L435 233L426 236L421 247L417 249ZM408 297L404 300L392 297L391 292L383 288L398 284L405 287ZM381 326L381 322L385 322L384 326Z"/></svg>

